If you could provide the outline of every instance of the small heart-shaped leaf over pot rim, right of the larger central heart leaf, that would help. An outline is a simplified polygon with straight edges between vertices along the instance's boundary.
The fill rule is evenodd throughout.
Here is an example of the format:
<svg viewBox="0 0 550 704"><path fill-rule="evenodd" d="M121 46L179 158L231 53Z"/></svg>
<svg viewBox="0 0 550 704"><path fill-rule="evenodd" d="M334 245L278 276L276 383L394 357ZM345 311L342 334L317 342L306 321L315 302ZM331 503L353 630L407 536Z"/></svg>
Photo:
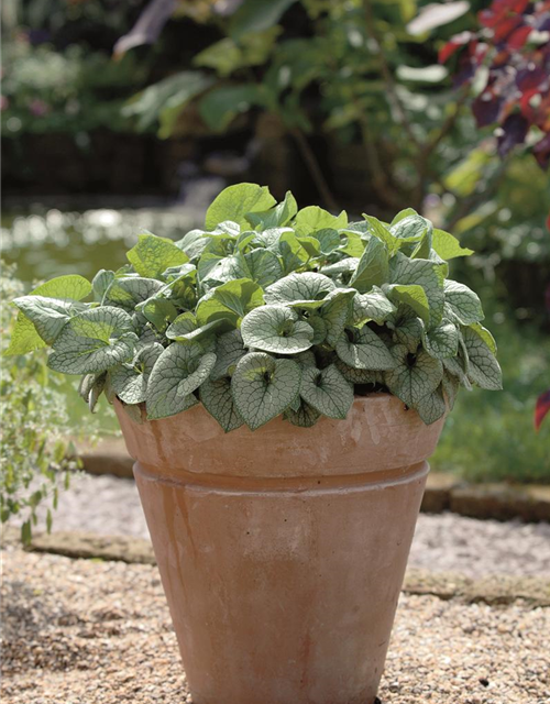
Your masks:
<svg viewBox="0 0 550 704"><path fill-rule="evenodd" d="M300 396L320 414L343 419L353 404L353 387L333 364L322 372L307 366L301 372Z"/></svg>

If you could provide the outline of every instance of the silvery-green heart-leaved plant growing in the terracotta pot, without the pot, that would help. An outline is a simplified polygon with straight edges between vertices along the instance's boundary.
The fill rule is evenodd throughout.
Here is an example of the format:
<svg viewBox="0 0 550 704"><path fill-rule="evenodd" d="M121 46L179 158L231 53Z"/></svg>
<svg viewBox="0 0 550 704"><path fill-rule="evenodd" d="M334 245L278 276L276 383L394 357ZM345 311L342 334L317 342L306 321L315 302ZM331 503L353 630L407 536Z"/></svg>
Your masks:
<svg viewBox="0 0 550 704"><path fill-rule="evenodd" d="M309 427L384 391L431 424L460 386L502 387L479 297L447 278L468 254L410 209L349 222L240 184L205 230L141 234L119 271L18 298L9 352L51 345L91 409L106 393L139 421L202 403L226 431L280 414Z"/></svg>

